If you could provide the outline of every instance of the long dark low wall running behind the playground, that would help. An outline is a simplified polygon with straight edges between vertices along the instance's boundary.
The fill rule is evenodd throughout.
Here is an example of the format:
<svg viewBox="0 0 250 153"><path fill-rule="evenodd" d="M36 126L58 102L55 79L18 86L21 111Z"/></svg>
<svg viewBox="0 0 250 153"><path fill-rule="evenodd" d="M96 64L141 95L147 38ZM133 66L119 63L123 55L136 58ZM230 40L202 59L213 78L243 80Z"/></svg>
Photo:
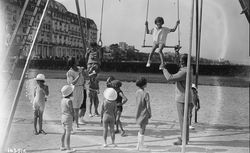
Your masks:
<svg viewBox="0 0 250 153"><path fill-rule="evenodd" d="M22 67L25 60L20 60L19 67ZM161 73L159 63L152 63L147 68L143 62L103 62L101 69L104 72L134 72L134 73ZM30 68L67 70L68 62L65 60L32 60ZM176 64L168 64L166 68L171 73L178 71ZM195 73L196 65L192 64ZM250 65L199 65L199 75L211 76L250 76Z"/></svg>

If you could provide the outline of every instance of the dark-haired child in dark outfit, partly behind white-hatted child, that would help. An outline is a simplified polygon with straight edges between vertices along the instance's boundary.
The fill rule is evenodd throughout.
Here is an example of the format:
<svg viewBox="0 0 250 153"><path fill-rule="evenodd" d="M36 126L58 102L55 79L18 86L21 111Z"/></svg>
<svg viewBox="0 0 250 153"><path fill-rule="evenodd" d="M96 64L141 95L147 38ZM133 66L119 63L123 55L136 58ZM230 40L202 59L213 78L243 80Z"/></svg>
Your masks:
<svg viewBox="0 0 250 153"><path fill-rule="evenodd" d="M113 87L117 92L117 99L116 99L116 104L117 104L117 111L116 111L116 131L115 133L119 133L119 127L121 129L121 136L125 137L126 133L122 127L122 122L121 122L121 115L123 111L123 105L128 101L127 97L124 95L124 93L121 90L122 82L119 80L113 80L112 81Z"/></svg>

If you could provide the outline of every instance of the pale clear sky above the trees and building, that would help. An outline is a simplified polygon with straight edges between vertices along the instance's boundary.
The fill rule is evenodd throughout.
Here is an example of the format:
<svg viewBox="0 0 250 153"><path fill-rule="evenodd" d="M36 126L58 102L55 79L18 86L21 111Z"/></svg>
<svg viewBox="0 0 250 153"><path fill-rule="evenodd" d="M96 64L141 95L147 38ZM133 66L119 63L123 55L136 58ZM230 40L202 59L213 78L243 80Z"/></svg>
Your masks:
<svg viewBox="0 0 250 153"><path fill-rule="evenodd" d="M76 13L74 0L58 0L68 11ZM180 0L180 41L181 52L190 48L191 0ZM84 0L79 0L81 15L85 16ZM91 18L100 29L102 0L86 0L87 17ZM142 48L146 21L147 0L104 0L102 41L104 45L127 42L137 49ZM202 40L200 56L209 59L224 58L237 64L250 65L249 23L237 0L204 0L202 17ZM174 27L177 20L177 0L150 0L148 22L153 28L154 19L162 16L164 26ZM194 24L195 26L195 24ZM99 34L98 34L99 36ZM168 45L177 44L178 32L170 33ZM193 30L195 38L195 29ZM152 37L146 36L146 45L152 44ZM164 52L173 51L165 49ZM192 55L195 55L193 39Z"/></svg>

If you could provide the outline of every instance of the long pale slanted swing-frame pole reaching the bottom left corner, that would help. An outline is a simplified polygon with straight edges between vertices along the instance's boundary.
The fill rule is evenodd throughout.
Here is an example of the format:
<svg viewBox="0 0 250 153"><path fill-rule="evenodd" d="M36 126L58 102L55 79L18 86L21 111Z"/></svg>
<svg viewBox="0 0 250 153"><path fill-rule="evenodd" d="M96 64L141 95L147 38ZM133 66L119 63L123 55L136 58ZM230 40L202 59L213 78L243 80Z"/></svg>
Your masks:
<svg viewBox="0 0 250 153"><path fill-rule="evenodd" d="M18 101L19 101L19 97L21 95L23 84L24 84L25 74L26 74L26 72L28 70L28 67L29 67L29 64L30 64L30 61L31 61L32 50L33 50L33 47L35 45L38 32L39 32L40 27L42 25L43 18L45 16L46 12L47 12L49 2L50 2L50 0L47 0L47 3L45 5L45 7L44 7L43 14L42 14L40 22L38 24L37 31L35 33L33 42L31 44L29 54L28 54L28 57L27 57L27 60L26 60L26 63L25 63L25 66L24 66L24 69L23 69L19 84L18 84L18 87L17 87L17 92L16 92L15 97L14 97L14 102L13 102L13 105L11 107L10 116L9 116L8 122L7 122L7 127L5 129L3 143L1 144L1 152L4 152L4 148L5 148L5 145L6 145L8 136L9 136L10 128L11 128L11 123L12 123L13 117L15 115L16 107L17 107L17 104L18 104Z"/></svg>

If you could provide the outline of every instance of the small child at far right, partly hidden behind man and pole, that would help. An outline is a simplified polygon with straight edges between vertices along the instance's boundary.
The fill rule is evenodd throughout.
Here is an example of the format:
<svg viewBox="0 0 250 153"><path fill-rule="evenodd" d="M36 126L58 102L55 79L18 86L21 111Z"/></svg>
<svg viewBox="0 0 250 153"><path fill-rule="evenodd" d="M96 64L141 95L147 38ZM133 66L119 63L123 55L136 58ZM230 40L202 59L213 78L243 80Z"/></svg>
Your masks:
<svg viewBox="0 0 250 153"><path fill-rule="evenodd" d="M192 112L193 108L195 108L196 111L200 109L200 100L198 95L198 90L195 86L195 84L192 84L192 103L189 105L189 129L194 130L195 128L192 126Z"/></svg>

